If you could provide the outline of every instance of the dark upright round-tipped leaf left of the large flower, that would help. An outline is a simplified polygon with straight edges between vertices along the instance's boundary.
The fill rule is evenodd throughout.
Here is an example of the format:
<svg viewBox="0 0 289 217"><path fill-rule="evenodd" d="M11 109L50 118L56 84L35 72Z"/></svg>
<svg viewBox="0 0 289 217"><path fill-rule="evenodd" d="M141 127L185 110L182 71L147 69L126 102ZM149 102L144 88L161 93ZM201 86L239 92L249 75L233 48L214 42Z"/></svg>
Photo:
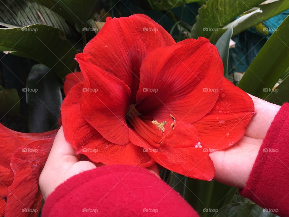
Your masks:
<svg viewBox="0 0 289 217"><path fill-rule="evenodd" d="M58 77L43 64L36 64L28 75L26 88L30 133L51 131L58 127L62 103Z"/></svg>

